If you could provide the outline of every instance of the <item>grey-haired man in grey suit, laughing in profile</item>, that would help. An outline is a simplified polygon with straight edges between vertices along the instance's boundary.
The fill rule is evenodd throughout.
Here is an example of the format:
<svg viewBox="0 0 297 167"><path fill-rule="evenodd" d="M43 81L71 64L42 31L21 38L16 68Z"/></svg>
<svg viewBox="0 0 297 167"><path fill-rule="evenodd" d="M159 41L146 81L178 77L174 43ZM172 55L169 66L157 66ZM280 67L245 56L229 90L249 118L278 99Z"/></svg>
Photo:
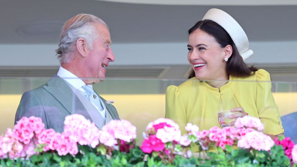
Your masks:
<svg viewBox="0 0 297 167"><path fill-rule="evenodd" d="M78 14L66 21L56 50L61 63L57 77L23 94L15 124L23 116L37 116L45 128L63 132L64 119L70 114L83 115L99 129L119 119L116 108L92 88L105 78L105 68L115 60L110 45L108 26L96 16Z"/></svg>

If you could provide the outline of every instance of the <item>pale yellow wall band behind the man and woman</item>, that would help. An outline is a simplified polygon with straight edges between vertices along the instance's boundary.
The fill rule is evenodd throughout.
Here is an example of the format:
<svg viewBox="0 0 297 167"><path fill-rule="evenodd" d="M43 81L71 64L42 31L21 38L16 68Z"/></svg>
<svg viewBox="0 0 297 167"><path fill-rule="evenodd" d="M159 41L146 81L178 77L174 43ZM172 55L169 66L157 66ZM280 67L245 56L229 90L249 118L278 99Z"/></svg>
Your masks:
<svg viewBox="0 0 297 167"><path fill-rule="evenodd" d="M297 93L273 93L280 115L297 111ZM165 115L165 94L102 94L106 100L114 100L121 119L130 121L137 127L137 135L142 141L142 132L146 125ZM0 95L0 134L7 127L13 128L15 111L21 95Z"/></svg>

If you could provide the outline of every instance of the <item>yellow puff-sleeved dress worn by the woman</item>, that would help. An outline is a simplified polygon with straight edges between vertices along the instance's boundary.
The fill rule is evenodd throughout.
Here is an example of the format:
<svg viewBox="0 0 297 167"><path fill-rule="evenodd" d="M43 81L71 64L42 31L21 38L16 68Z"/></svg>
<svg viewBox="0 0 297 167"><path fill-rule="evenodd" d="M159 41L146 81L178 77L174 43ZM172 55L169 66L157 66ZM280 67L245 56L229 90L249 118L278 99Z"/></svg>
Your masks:
<svg viewBox="0 0 297 167"><path fill-rule="evenodd" d="M241 106L250 116L260 118L264 133L284 133L278 107L271 94L270 75L263 69L246 78L230 76L229 82L220 87L220 92L196 77L179 86L168 86L165 118L176 122L182 135L187 133L184 128L187 123L197 125L199 130L220 127L218 102L224 98L233 98L236 106Z"/></svg>

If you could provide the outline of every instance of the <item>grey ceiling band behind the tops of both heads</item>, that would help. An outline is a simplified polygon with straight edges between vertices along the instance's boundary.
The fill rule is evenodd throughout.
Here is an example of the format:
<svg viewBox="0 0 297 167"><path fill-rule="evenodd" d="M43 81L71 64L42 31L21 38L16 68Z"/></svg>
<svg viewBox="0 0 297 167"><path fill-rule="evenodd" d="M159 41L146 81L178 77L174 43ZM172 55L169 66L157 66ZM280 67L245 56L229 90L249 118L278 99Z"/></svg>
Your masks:
<svg viewBox="0 0 297 167"><path fill-rule="evenodd" d="M187 30L210 8L232 15L250 41L296 41L296 3L296 0L1 1L0 44L56 44L63 23L78 13L91 13L104 20L110 27L113 43L186 42Z"/></svg>

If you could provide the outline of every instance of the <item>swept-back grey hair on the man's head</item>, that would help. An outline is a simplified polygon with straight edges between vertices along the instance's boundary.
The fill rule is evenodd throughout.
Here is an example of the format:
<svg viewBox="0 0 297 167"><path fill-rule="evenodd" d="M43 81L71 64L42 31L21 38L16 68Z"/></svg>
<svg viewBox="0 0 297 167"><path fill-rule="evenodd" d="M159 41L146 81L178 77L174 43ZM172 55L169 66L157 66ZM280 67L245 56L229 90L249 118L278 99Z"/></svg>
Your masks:
<svg viewBox="0 0 297 167"><path fill-rule="evenodd" d="M74 58L76 41L79 38L86 40L89 49L93 49L93 42L99 37L95 24L108 26L100 18L89 14L78 14L65 22L62 27L59 48L56 56L60 63L69 63Z"/></svg>

